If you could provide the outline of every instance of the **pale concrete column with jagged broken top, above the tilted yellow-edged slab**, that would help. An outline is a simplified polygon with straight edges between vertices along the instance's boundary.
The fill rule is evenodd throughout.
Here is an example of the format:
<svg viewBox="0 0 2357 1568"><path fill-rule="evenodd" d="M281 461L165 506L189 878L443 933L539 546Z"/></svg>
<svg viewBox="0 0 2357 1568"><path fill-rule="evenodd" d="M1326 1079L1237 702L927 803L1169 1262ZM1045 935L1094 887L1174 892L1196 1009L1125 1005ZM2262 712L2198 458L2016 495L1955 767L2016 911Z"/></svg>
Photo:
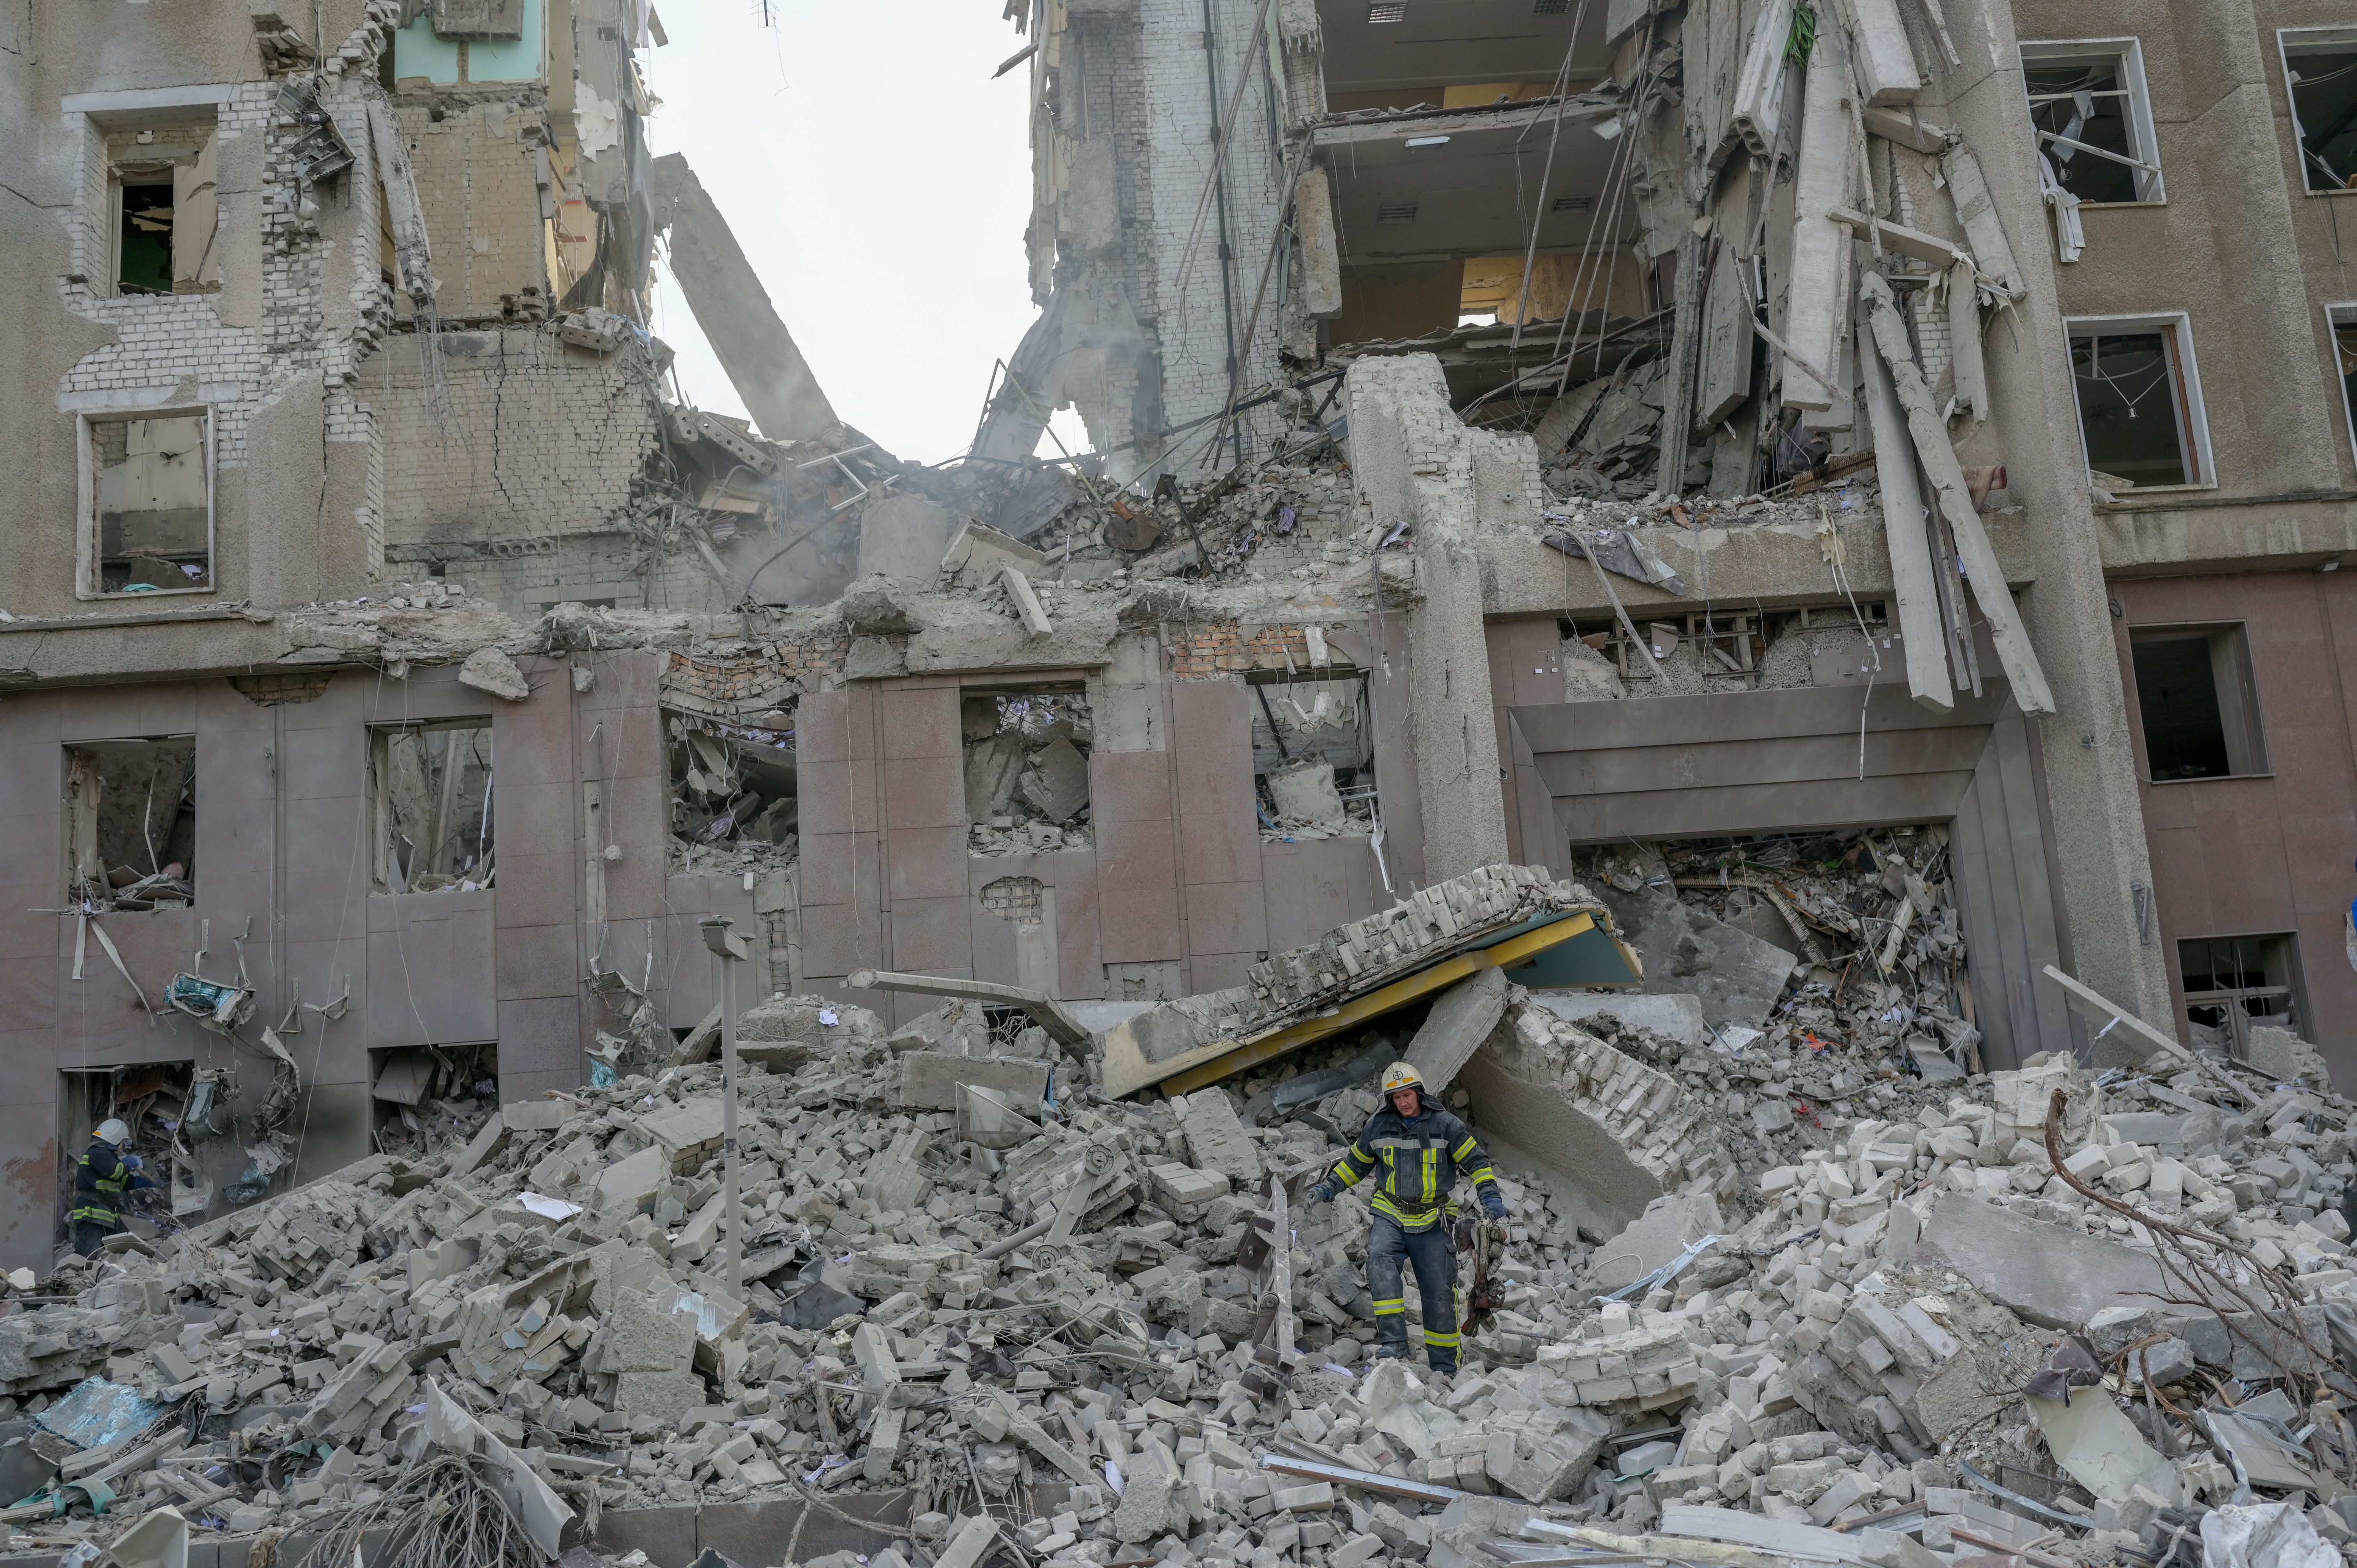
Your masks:
<svg viewBox="0 0 2357 1568"><path fill-rule="evenodd" d="M1407 729L1424 809L1424 875L1440 882L1506 858L1478 519L1532 502L1537 448L1530 436L1466 429L1431 354L1362 358L1351 365L1346 396L1360 493L1376 521L1414 523L1419 604L1409 611Z"/></svg>

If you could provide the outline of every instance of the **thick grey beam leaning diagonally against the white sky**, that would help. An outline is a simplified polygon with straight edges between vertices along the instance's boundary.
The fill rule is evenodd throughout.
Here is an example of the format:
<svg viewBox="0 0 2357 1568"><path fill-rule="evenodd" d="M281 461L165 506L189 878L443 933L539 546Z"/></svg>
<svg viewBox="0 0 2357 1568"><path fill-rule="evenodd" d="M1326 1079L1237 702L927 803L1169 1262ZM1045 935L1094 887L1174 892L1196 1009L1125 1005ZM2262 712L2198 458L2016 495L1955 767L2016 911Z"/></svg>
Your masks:
<svg viewBox="0 0 2357 1568"><path fill-rule="evenodd" d="M834 406L778 321L728 219L679 153L655 158L653 172L655 226L672 231L672 276L728 384L771 441L816 441L834 424Z"/></svg>

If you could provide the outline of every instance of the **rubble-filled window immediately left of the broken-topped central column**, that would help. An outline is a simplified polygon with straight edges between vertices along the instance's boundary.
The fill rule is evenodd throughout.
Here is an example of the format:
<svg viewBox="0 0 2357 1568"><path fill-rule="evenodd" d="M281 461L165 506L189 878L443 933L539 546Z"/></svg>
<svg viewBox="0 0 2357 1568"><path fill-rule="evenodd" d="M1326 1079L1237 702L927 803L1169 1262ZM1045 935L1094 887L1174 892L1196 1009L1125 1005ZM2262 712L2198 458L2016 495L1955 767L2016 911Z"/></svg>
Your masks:
<svg viewBox="0 0 2357 1568"><path fill-rule="evenodd" d="M1249 689L1261 837L1296 842L1374 832L1367 677L1277 677L1249 681Z"/></svg>

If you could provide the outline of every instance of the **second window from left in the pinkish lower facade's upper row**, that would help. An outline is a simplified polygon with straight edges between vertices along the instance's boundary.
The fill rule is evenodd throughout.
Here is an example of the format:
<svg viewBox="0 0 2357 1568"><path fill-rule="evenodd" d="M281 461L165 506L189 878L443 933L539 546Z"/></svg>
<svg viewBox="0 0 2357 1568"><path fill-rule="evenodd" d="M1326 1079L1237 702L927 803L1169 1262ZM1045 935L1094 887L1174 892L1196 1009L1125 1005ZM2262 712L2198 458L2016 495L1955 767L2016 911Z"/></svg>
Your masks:
<svg viewBox="0 0 2357 1568"><path fill-rule="evenodd" d="M490 887L490 719L387 724L368 740L375 891Z"/></svg>

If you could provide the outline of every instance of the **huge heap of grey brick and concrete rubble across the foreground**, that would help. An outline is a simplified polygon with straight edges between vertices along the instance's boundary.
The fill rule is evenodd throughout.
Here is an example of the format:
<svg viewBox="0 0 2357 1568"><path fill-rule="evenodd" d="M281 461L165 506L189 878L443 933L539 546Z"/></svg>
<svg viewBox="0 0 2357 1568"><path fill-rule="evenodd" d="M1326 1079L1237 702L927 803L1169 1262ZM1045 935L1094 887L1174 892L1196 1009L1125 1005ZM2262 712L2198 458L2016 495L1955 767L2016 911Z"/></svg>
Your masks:
<svg viewBox="0 0 2357 1568"><path fill-rule="evenodd" d="M775 997L742 1030L740 1294L714 1066L511 1103L462 1151L61 1264L0 1318L7 1415L123 1389L153 1424L113 1462L104 1521L61 1490L104 1455L14 1427L33 1467L14 1523L104 1540L167 1502L214 1530L328 1523L394 1485L448 1398L575 1530L592 1509L910 1488L907 1561L1473 1563L1565 1530L1655 1556L1706 1537L2138 1561L2199 1540L2244 1476L2249 1507L2218 1507L2213 1528L2348 1537L2329 1502L2348 1427L2331 1389L2310 1401L2315 1353L2357 1344L2336 1332L2357 1327L2348 1101L2173 1059L1926 1085L1850 1054L1855 1096L1763 1127L1754 1085L1784 1094L1784 1045L1582 1026L1544 1000L1513 993L1483 1049L1629 1106L1607 1132L1664 1195L1607 1236L1572 1179L1504 1158L1497 1311L1454 1379L1369 1361L1355 1193L1287 1207L1289 1377L1268 1377L1268 1264L1244 1269L1268 1179L1299 1191L1332 1162L1393 1040L1108 1103L1039 1030L971 1004L886 1033ZM2058 1089L2067 1172L2041 1134ZM985 1099L999 1115L978 1120ZM2150 1287L2164 1219L2298 1311L2270 1318L2256 1278L2223 1316L2102 1294ZM2100 1452L2025 1394L2041 1372L2119 1417Z"/></svg>

